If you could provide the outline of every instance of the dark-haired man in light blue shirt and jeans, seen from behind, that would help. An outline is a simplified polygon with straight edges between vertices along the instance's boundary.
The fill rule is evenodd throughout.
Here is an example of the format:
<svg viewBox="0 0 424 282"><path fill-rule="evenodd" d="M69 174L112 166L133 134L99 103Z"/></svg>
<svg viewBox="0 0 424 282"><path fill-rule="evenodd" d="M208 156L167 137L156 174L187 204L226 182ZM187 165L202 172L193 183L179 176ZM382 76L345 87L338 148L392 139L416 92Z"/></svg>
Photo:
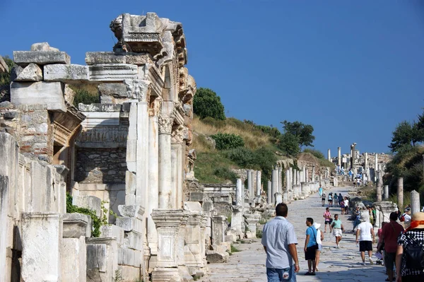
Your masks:
<svg viewBox="0 0 424 282"><path fill-rule="evenodd" d="M276 206L276 217L267 222L262 231L261 243L266 252L268 282L296 281L299 272L298 239L293 224L287 221L286 204ZM294 262L294 264L293 264Z"/></svg>

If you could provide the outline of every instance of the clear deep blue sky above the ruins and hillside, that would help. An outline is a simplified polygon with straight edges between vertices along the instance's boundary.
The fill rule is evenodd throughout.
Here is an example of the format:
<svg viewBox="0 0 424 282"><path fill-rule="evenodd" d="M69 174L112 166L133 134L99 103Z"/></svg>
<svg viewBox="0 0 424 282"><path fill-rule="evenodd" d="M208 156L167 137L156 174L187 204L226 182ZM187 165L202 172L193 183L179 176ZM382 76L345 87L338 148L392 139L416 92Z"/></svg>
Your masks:
<svg viewBox="0 0 424 282"><path fill-rule="evenodd" d="M0 54L49 42L85 64L120 13L183 23L189 72L228 117L314 127L315 148L387 152L424 107L424 2L0 0Z"/></svg>

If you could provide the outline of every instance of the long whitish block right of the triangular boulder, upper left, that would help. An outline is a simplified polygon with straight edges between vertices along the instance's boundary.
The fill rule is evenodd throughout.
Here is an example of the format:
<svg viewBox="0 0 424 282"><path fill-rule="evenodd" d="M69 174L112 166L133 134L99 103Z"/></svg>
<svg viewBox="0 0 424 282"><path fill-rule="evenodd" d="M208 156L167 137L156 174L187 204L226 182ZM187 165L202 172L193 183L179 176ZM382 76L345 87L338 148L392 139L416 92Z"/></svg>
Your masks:
<svg viewBox="0 0 424 282"><path fill-rule="evenodd" d="M79 64L49 64L44 67L44 79L45 81L61 81L64 83L88 81L88 66L81 66Z"/></svg>

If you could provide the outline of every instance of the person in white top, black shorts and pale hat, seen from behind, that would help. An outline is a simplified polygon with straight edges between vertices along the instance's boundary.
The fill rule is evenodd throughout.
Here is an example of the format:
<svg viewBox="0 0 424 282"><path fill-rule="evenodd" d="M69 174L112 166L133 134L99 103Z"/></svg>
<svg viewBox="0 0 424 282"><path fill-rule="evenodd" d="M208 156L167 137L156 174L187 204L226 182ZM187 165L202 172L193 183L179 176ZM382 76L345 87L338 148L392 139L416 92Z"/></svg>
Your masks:
<svg viewBox="0 0 424 282"><path fill-rule="evenodd" d="M367 214L360 216L359 225L356 228L356 244L359 242L360 257L363 260L362 265L365 265L365 252L368 252L368 261L372 262L372 244L375 242L374 228L370 223L370 217Z"/></svg>

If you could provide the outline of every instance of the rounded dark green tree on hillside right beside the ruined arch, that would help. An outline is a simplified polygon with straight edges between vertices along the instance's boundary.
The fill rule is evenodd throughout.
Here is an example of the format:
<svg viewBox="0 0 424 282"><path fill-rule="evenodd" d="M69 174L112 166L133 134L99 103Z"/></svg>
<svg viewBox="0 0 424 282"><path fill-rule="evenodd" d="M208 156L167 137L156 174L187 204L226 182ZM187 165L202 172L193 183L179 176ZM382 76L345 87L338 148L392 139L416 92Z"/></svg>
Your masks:
<svg viewBox="0 0 424 282"><path fill-rule="evenodd" d="M213 119L225 119L224 105L220 97L209 88L199 88L193 99L193 112L204 119L212 117Z"/></svg>

